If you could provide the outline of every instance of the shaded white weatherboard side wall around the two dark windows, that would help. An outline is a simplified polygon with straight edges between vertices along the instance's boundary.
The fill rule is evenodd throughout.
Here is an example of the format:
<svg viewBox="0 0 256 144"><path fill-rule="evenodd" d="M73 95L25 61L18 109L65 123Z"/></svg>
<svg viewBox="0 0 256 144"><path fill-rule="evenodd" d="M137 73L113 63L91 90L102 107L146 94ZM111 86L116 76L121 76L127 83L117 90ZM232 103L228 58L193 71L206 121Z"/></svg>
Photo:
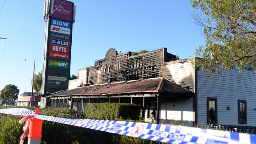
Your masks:
<svg viewBox="0 0 256 144"><path fill-rule="evenodd" d="M217 78L209 76L197 71L198 124L207 123L207 97L211 97L217 98L218 124L239 125L238 100L247 100L247 124L240 125L256 126L256 71L228 69Z"/></svg>

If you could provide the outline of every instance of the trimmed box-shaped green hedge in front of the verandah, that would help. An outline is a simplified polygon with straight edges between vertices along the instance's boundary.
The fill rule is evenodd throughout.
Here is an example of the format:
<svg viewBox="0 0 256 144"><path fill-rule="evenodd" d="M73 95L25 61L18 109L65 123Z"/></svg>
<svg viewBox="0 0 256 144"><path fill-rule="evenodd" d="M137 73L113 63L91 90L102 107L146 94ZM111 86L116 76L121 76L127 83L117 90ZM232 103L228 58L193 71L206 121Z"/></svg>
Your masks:
<svg viewBox="0 0 256 144"><path fill-rule="evenodd" d="M141 106L131 103L93 103L85 106L85 117L89 119L138 120L140 110Z"/></svg>

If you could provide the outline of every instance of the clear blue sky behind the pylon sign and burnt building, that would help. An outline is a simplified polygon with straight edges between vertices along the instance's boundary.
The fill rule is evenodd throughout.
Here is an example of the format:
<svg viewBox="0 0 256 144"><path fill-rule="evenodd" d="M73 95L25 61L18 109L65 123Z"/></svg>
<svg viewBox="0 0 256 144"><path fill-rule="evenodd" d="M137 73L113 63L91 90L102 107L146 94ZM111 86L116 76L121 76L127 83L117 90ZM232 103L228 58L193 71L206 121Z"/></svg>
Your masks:
<svg viewBox="0 0 256 144"><path fill-rule="evenodd" d="M36 74L43 69L44 0L27 1L6 0L0 11L0 37L7 38L0 90L14 84L20 91L31 91L33 61L23 59L36 59ZM128 52L166 47L167 52L183 59L195 56L195 49L205 43L202 29L191 17L191 13L198 11L189 0L72 2L76 5L76 22L73 24L70 74L77 75L78 69L94 65L95 60L104 58L109 48ZM0 0L0 7L3 3L4 0ZM4 42L0 39L0 62Z"/></svg>

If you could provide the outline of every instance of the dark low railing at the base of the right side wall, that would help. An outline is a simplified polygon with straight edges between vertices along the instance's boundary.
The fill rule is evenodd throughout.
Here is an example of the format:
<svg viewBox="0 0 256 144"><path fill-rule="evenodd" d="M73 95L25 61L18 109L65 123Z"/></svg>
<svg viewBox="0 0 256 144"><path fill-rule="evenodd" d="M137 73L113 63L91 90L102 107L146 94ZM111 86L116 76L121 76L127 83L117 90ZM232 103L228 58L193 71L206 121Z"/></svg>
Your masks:
<svg viewBox="0 0 256 144"><path fill-rule="evenodd" d="M210 129L230 131L237 133L249 133L256 135L256 127L253 126L228 126L228 125L215 125L209 127Z"/></svg>

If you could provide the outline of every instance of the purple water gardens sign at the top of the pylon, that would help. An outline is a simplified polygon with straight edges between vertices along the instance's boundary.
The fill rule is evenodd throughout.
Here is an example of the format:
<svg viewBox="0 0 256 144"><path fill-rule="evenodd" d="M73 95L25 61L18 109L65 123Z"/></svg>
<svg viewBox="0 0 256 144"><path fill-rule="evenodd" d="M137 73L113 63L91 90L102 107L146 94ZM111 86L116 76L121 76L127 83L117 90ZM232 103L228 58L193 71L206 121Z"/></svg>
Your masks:
<svg viewBox="0 0 256 144"><path fill-rule="evenodd" d="M54 11L55 10L55 11ZM63 0L53 0L53 14L52 17L61 18L65 20L72 19L72 3Z"/></svg>

